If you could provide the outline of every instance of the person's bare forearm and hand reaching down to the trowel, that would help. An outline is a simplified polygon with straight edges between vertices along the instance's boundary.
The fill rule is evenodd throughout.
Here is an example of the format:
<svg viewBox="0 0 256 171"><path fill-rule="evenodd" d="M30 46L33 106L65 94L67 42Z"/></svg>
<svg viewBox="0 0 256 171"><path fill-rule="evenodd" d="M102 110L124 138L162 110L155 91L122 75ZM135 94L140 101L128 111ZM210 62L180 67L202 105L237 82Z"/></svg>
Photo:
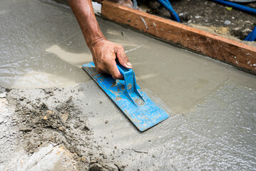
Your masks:
<svg viewBox="0 0 256 171"><path fill-rule="evenodd" d="M91 0L68 0L90 48L98 73L110 73L115 79L123 78L116 66L116 58L122 66L132 68L123 46L108 41L101 32L93 12Z"/></svg>

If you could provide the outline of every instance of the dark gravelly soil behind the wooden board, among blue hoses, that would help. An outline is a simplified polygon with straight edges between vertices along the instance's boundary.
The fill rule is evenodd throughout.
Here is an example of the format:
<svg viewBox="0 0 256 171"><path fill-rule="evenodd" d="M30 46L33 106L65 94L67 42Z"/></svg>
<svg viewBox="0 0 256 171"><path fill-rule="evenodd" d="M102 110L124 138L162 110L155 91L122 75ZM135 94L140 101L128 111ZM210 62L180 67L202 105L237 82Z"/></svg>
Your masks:
<svg viewBox="0 0 256 171"><path fill-rule="evenodd" d="M149 14L156 14L171 19L170 12L158 1L138 1L141 6L147 6ZM181 0L171 1L173 9L178 14L181 23L228 38L244 40L256 24L256 16L238 9L229 8L213 1ZM256 3L242 4L255 9ZM224 30L224 31L222 31ZM233 38L232 38L233 39ZM244 41L243 43L247 43ZM250 43L252 45L252 43ZM255 44L254 44L255 45Z"/></svg>

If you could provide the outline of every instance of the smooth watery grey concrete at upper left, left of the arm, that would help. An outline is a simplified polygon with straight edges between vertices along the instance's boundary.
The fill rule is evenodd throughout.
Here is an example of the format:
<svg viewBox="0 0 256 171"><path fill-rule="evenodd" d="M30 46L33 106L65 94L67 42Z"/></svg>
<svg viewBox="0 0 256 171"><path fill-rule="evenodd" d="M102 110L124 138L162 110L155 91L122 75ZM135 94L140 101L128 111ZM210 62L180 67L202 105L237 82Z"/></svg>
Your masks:
<svg viewBox="0 0 256 171"><path fill-rule="evenodd" d="M81 65L91 61L91 53L70 9L46 1L1 3L1 86L41 88L88 81ZM57 45L63 48L61 56ZM69 46L76 48L67 51ZM66 53L73 63L66 61ZM80 62L77 53L83 54Z"/></svg>

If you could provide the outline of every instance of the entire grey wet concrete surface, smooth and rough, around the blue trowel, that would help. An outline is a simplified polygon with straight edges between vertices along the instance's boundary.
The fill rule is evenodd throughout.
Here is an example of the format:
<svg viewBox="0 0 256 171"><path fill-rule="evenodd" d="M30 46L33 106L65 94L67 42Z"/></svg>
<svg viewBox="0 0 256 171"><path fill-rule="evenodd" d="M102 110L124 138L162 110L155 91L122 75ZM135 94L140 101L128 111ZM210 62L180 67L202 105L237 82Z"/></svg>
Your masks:
<svg viewBox="0 0 256 171"><path fill-rule="evenodd" d="M71 9L0 4L0 170L255 170L255 76L98 18L170 113L140 133L81 69Z"/></svg>

